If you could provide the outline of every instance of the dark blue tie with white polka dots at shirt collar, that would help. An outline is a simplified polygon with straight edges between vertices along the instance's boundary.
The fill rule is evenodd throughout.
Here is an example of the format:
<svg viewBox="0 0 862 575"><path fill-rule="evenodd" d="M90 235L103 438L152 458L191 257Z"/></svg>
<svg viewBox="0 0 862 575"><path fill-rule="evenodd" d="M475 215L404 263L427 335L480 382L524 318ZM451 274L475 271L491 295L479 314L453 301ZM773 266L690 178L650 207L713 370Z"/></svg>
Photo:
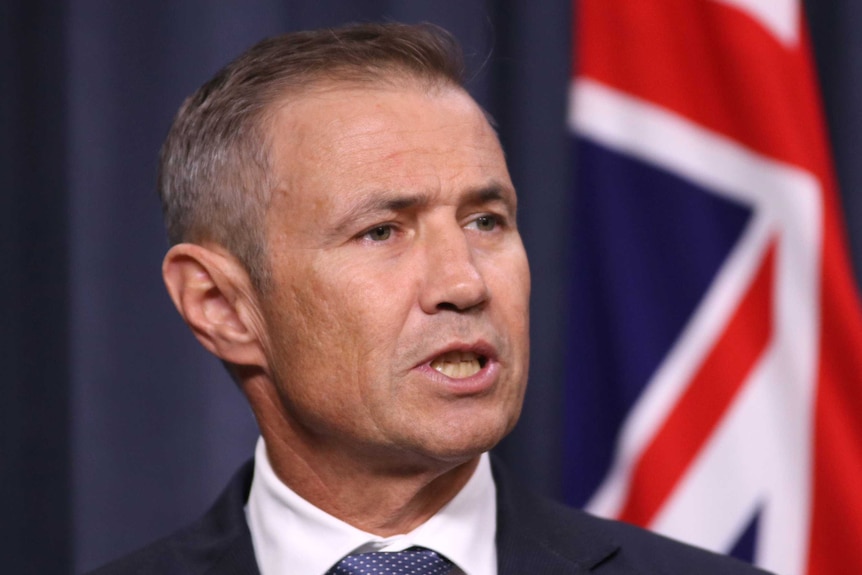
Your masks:
<svg viewBox="0 0 862 575"><path fill-rule="evenodd" d="M348 555L326 575L444 575L453 568L454 564L436 551L411 547L404 551Z"/></svg>

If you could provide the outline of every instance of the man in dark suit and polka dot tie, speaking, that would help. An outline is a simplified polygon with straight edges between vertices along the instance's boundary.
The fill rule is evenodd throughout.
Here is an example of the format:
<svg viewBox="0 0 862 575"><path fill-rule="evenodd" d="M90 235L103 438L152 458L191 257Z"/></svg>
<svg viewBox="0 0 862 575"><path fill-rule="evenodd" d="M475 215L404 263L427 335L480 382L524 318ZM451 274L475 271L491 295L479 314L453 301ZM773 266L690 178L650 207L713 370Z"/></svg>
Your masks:
<svg viewBox="0 0 862 575"><path fill-rule="evenodd" d="M198 523L99 573L755 572L492 465L526 386L530 275L447 33L258 44L183 105L159 188L168 291L261 440Z"/></svg>

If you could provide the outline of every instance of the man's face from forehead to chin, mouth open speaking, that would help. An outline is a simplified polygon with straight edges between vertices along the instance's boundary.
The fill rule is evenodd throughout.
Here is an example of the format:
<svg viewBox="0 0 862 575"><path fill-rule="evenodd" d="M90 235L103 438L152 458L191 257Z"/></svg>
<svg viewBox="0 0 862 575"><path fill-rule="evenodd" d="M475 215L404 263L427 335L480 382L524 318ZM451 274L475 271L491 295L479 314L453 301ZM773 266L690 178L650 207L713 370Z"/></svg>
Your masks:
<svg viewBox="0 0 862 575"><path fill-rule="evenodd" d="M285 443L369 463L492 447L521 409L530 276L480 109L454 88L330 86L271 126L261 302Z"/></svg>

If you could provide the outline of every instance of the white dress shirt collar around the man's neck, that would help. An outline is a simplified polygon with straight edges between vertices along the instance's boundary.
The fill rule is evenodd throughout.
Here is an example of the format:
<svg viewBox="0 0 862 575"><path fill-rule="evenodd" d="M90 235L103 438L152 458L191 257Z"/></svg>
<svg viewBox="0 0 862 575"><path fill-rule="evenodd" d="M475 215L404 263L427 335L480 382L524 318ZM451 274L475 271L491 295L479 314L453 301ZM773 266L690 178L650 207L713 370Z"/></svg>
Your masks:
<svg viewBox="0 0 862 575"><path fill-rule="evenodd" d="M410 533L379 537L315 507L282 483L260 438L246 518L261 575L324 575L350 553L419 545L447 557L466 575L496 575L497 503L485 453L466 485Z"/></svg>

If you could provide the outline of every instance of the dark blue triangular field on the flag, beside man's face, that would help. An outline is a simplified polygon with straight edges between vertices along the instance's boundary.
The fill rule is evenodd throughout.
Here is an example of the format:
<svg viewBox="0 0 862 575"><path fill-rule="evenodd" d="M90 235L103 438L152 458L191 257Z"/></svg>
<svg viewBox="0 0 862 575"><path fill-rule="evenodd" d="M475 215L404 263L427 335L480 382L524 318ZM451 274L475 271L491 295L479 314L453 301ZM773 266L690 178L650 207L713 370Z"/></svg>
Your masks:
<svg viewBox="0 0 862 575"><path fill-rule="evenodd" d="M566 373L566 493L584 505L617 432L751 211L673 173L577 139L575 269Z"/></svg>

